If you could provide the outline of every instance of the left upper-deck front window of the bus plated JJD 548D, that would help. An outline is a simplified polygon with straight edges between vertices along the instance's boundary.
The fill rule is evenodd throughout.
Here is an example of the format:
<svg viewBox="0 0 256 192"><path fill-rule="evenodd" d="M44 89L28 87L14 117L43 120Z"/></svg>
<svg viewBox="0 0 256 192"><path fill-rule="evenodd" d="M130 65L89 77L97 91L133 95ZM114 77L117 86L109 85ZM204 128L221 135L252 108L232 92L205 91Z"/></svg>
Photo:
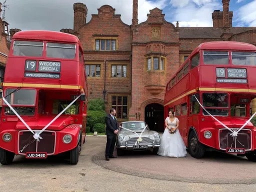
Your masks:
<svg viewBox="0 0 256 192"><path fill-rule="evenodd" d="M15 40L13 55L16 56L42 56L43 42Z"/></svg>

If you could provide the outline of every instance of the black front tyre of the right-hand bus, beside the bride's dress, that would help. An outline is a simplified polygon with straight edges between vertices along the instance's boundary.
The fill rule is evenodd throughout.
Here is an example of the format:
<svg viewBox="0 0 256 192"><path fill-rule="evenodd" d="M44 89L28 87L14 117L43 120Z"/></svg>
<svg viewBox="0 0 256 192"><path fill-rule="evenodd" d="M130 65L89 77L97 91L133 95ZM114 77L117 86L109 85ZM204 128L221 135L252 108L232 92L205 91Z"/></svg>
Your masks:
<svg viewBox="0 0 256 192"><path fill-rule="evenodd" d="M188 151L194 158L201 158L204 155L205 147L198 141L194 131L188 136Z"/></svg>

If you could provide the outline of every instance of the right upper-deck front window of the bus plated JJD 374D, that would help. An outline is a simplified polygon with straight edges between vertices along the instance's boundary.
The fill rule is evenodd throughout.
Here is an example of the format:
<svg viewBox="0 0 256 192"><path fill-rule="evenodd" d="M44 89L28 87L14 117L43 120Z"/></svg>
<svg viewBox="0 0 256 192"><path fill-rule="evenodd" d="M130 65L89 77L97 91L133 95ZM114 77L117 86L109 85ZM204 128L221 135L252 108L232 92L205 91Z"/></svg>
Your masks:
<svg viewBox="0 0 256 192"><path fill-rule="evenodd" d="M256 65L256 52L231 52L235 65Z"/></svg>

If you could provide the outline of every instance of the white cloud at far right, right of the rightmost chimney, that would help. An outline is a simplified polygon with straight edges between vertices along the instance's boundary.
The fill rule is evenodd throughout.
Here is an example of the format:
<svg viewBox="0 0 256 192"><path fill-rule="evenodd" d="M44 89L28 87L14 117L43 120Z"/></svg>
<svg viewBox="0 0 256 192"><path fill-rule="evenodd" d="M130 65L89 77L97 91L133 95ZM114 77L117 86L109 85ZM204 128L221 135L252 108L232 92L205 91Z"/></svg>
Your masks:
<svg viewBox="0 0 256 192"><path fill-rule="evenodd" d="M256 0L241 6L235 11L236 21L239 25L243 24L248 26L256 26Z"/></svg>

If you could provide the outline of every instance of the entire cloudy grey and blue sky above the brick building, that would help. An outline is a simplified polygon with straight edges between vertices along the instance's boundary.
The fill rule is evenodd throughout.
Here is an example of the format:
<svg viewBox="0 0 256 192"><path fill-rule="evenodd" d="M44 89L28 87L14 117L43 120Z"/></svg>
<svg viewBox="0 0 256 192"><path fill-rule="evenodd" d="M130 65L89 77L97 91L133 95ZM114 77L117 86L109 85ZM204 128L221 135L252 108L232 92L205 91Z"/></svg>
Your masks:
<svg viewBox="0 0 256 192"><path fill-rule="evenodd" d="M0 0L3 3L4 0ZM230 0L233 26L256 26L256 0ZM115 14L121 14L126 24L131 24L132 0L6 0L5 19L9 28L21 30L55 30L73 28L73 3L82 2L88 8L86 22L97 8L109 4ZM146 20L149 9L163 10L165 20L179 26L212 26L211 13L222 11L221 0L138 0L138 21ZM3 10L3 7L2 7ZM1 11L2 17L3 11Z"/></svg>

